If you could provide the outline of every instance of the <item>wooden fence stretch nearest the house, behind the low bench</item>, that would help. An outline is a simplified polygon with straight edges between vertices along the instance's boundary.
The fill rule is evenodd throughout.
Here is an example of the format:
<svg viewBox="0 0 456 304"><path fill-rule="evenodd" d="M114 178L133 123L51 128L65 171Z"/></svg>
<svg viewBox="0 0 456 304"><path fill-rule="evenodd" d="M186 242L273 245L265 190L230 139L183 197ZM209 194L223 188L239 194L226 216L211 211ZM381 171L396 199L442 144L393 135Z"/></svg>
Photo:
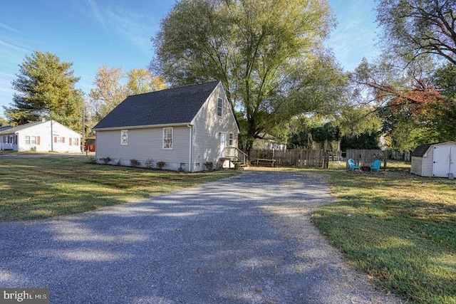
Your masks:
<svg viewBox="0 0 456 304"><path fill-rule="evenodd" d="M250 150L250 162L256 159L275 159L279 166L327 168L329 153L323 150Z"/></svg>

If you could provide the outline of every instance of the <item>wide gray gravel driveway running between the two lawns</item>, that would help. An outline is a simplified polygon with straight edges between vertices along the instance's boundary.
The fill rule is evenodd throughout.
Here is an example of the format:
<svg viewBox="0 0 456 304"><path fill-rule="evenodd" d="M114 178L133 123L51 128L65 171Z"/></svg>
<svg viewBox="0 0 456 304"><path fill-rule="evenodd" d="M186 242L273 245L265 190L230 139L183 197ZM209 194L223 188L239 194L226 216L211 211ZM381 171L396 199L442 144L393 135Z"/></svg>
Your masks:
<svg viewBox="0 0 456 304"><path fill-rule="evenodd" d="M399 303L310 221L318 177L244 172L135 204L0 222L0 287L51 303Z"/></svg>

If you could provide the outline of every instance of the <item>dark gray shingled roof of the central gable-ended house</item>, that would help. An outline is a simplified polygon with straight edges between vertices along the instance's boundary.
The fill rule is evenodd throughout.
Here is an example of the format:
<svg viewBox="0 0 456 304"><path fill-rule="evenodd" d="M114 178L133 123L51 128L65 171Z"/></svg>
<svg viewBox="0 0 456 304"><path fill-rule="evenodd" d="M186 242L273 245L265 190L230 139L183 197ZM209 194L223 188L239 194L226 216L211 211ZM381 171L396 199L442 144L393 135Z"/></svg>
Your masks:
<svg viewBox="0 0 456 304"><path fill-rule="evenodd" d="M219 81L128 96L94 130L192 121Z"/></svg>

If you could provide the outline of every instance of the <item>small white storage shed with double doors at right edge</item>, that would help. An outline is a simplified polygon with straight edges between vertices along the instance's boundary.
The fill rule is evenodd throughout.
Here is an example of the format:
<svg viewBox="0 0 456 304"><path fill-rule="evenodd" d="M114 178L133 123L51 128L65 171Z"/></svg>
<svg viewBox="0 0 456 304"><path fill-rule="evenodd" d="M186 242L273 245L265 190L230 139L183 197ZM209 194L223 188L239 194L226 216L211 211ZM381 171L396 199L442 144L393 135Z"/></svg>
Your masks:
<svg viewBox="0 0 456 304"><path fill-rule="evenodd" d="M412 152L410 172L422 177L456 176L456 142L419 145Z"/></svg>

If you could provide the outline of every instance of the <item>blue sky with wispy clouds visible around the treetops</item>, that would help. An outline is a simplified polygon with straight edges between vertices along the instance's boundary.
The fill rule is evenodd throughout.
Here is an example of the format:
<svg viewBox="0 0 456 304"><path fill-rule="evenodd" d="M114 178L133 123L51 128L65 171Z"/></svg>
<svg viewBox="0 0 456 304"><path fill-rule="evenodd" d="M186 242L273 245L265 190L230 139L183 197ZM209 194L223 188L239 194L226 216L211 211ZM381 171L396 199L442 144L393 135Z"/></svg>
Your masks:
<svg viewBox="0 0 456 304"><path fill-rule="evenodd" d="M375 58L375 2L329 0L338 20L326 45L345 70L363 57ZM72 62L76 84L93 88L101 65L146 68L153 56L150 38L175 0L14 0L0 10L0 116L11 103L11 81L33 51Z"/></svg>

